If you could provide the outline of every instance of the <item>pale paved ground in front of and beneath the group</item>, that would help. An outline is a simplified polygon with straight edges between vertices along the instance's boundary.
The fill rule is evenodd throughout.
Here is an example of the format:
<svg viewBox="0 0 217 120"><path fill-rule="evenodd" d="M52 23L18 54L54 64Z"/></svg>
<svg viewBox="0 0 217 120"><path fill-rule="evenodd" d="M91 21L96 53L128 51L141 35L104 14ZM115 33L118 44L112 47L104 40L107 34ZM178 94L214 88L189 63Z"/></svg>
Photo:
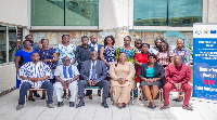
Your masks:
<svg viewBox="0 0 217 120"><path fill-rule="evenodd" d="M176 95L173 93L170 99ZM124 109L118 109L107 99L110 108L105 109L100 106L97 94L93 94L93 99L85 98L86 106L81 108L69 108L65 98L63 107L59 108L54 101L55 107L48 108L44 101L36 98L36 102L27 101L26 106L17 111L17 99L18 90L0 97L0 120L217 120L217 102L199 98L190 101L193 111L182 109L182 102L170 102L170 108L166 110L159 110L158 106L152 110L146 107L148 102L138 104L137 99L135 105L130 103Z"/></svg>

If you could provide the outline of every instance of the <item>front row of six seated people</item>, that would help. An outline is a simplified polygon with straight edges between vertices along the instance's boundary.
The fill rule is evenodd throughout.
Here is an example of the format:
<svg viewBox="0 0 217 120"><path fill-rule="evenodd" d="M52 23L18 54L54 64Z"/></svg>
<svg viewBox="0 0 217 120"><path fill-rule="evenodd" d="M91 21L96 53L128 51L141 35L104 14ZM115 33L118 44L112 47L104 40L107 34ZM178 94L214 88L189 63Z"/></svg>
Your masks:
<svg viewBox="0 0 217 120"><path fill-rule="evenodd" d="M85 106L84 102L84 91L85 86L98 85L103 88L103 101L101 105L104 108L108 108L106 104L106 98L108 92L114 92L115 104L118 108L126 107L126 104L130 99L130 91L133 88L133 77L135 77L135 66L130 62L126 62L127 54L119 52L118 61L112 63L110 68L110 76L112 78L111 85L110 82L104 80L107 76L106 65L104 62L98 59L98 52L90 52L91 59L86 61L81 64L80 74L77 67L71 64L71 58L64 56L62 59L63 65L58 66L54 76L56 82L52 86L52 83L48 81L49 77L52 77L50 68L39 61L40 56L38 53L31 54L31 62L23 65L18 70L18 76L23 79L20 89L20 99L17 110L22 109L25 104L25 95L27 90L30 88L42 88L47 90L48 101L47 106L53 108L53 88L58 99L58 106L63 106L61 98L61 90L63 88L69 88L72 96L69 98L69 107L74 107L76 94L77 94L77 79L78 81L78 95L80 102L76 105L76 108ZM157 94L158 88L163 85L164 82L164 69L161 64L156 64L155 54L149 54L149 63L141 65L139 71L139 77L142 80L141 85L144 90L144 94L150 99L149 108L155 108L153 98ZM189 105L189 99L191 95L191 86L188 84L191 78L191 71L188 66L181 63L181 56L177 55L174 57L174 64L166 67L165 78L167 83L163 88L165 104L161 109L168 108L168 96L169 92L176 88L178 90L182 89L184 91L184 103L183 108L192 110ZM111 89L110 89L111 86Z"/></svg>

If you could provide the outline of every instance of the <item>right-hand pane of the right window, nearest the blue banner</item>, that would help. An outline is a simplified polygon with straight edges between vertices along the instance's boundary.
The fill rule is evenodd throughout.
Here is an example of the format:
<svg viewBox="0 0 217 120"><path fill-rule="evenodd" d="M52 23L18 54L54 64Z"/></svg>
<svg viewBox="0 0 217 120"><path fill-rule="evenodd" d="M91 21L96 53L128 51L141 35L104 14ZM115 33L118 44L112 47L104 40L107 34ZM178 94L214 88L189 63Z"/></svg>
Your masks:
<svg viewBox="0 0 217 120"><path fill-rule="evenodd" d="M169 0L169 26L192 26L202 23L203 0Z"/></svg>

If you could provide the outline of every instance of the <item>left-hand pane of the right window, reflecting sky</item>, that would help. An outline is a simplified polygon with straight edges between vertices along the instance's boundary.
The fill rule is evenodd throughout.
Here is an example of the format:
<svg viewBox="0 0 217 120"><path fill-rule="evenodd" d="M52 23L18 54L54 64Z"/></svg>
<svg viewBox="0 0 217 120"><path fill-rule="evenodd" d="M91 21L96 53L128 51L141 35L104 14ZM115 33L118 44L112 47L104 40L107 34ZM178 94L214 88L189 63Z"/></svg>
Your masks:
<svg viewBox="0 0 217 120"><path fill-rule="evenodd" d="M166 26L167 0L135 0L135 26Z"/></svg>

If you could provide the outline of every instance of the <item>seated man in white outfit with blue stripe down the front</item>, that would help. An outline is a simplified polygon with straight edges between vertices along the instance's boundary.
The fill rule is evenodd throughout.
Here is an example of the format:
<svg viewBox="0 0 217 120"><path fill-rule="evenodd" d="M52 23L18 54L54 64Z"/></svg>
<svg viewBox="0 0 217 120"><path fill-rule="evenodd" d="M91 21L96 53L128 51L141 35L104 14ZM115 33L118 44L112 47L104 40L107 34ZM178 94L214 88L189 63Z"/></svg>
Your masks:
<svg viewBox="0 0 217 120"><path fill-rule="evenodd" d="M68 56L64 56L62 63L63 65L58 66L54 72L56 82L53 88L58 99L58 107L64 105L61 98L61 90L63 88L68 88L71 90L69 107L74 107L74 102L77 95L77 79L79 78L79 71L77 67L71 65L71 58Z"/></svg>

